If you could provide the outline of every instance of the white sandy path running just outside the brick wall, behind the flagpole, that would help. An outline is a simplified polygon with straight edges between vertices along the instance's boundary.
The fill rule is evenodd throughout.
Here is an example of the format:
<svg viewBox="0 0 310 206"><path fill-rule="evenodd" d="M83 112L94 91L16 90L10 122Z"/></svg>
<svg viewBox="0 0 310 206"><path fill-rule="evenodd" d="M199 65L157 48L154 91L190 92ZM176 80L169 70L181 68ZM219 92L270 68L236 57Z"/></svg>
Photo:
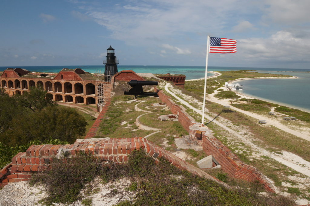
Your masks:
<svg viewBox="0 0 310 206"><path fill-rule="evenodd" d="M189 107L190 109L194 110L196 113L202 115L202 111L200 109L197 109L195 107L193 107L192 105L190 105L188 103L188 101L184 101L184 99L188 99L191 100L191 102L195 102L195 105L197 105L197 107L202 108L202 103L200 102L200 104L197 104L196 102L199 101L194 101L194 99L192 97L186 96L182 93L182 91L180 91L179 89L176 89L174 87L172 87L170 85L170 83L167 83L165 85L165 90L170 93L173 97L175 97L180 103L186 105L187 107ZM171 90L171 91L170 91ZM179 96L177 96L176 94L182 96L181 99ZM204 114L205 118L208 119L209 121L212 121L214 118ZM234 130L232 130L231 128L228 128L224 123L219 122L218 120L214 119L213 122L217 125L219 125L221 128L225 129L226 131L228 131L229 133L231 133L232 135L234 135L239 141L243 142L244 144L250 146L252 148L252 150L256 151L257 153L255 154L255 156L268 156L272 159L277 160L278 162L296 170L297 172L300 172L308 177L310 177L310 162L302 159L301 157L299 157L298 155L295 155L291 152L287 152L287 151L282 151L282 154L277 154L275 152L270 152L268 150L265 150L264 148L256 145L251 139L251 138L246 138L246 136L235 132ZM266 177L267 178L267 177ZM310 181L309 178L307 178L308 181Z"/></svg>

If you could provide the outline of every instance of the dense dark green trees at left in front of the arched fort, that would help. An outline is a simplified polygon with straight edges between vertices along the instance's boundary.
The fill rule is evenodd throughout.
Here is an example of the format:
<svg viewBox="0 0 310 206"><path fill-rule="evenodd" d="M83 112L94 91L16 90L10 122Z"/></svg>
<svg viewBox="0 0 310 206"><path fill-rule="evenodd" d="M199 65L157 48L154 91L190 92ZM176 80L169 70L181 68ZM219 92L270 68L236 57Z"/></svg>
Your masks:
<svg viewBox="0 0 310 206"><path fill-rule="evenodd" d="M85 119L47 100L47 92L41 89L32 87L26 94L15 96L0 89L0 168L32 144L73 143L85 134Z"/></svg>

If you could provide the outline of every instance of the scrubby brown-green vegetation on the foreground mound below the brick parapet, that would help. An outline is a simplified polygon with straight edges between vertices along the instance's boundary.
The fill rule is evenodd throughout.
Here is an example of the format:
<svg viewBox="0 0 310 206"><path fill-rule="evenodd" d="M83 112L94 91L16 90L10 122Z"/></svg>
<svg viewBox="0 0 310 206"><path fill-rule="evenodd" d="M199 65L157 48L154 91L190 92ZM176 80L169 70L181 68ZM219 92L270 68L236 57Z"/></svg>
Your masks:
<svg viewBox="0 0 310 206"><path fill-rule="evenodd" d="M206 205L206 206L293 206L292 200L283 197L264 197L257 193L256 184L250 190L230 190L214 181L197 177L172 166L166 159L155 164L154 159L144 151L133 151L127 164L106 164L104 161L85 153L67 159L54 159L49 170L37 173L31 182L43 183L49 196L42 200L47 205L70 204L83 199L81 190L87 190L87 183L100 176L104 182L120 177L131 180L125 192L135 191L135 199L122 201L117 206L157 205ZM223 176L224 177L224 176ZM123 191L112 188L110 195L122 196ZM90 204L90 199L84 201Z"/></svg>

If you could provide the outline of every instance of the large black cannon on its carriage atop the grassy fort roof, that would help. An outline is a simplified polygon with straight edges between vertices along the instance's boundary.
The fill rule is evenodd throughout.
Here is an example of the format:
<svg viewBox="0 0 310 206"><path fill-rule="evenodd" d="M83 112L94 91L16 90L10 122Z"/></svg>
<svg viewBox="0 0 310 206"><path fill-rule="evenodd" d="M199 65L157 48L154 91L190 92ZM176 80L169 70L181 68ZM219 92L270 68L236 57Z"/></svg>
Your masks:
<svg viewBox="0 0 310 206"><path fill-rule="evenodd" d="M127 84L129 84L132 88L128 92L124 92L126 95L135 95L135 98L137 98L138 95L158 96L156 92L143 92L142 88L142 86L146 85L157 85L158 82L130 80Z"/></svg>

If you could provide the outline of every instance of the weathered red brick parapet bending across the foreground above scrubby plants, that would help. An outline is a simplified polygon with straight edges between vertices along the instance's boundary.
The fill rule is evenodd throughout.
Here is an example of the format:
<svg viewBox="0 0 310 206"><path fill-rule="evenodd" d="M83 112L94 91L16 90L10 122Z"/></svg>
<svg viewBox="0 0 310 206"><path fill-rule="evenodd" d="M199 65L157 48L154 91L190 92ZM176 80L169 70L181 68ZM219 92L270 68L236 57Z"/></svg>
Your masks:
<svg viewBox="0 0 310 206"><path fill-rule="evenodd" d="M195 175L217 181L219 184L229 187L143 137L78 139L72 145L32 145L26 152L15 155L12 162L0 170L0 186L5 186L9 182L29 180L31 173L44 171L47 169L48 163L54 157L61 156L63 152L76 155L79 151L85 151L106 161L126 163L128 155L134 150L144 150L148 156L157 162L160 161L159 158L165 158L180 169L188 170Z"/></svg>

